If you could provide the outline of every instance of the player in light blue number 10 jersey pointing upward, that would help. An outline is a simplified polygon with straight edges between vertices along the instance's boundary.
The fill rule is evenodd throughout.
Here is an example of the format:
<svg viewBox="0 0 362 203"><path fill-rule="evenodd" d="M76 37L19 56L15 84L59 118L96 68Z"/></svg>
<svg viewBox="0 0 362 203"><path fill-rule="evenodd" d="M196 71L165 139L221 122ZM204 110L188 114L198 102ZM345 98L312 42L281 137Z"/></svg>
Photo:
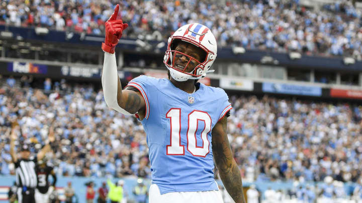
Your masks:
<svg viewBox="0 0 362 203"><path fill-rule="evenodd" d="M235 202L245 202L240 170L227 137L232 109L224 90L198 83L217 56L210 29L201 24L180 27L168 39L163 59L168 79L140 76L122 86L115 47L128 27L119 5L106 22L102 86L107 105L136 114L147 134L152 184L150 203L223 202L214 180L214 160Z"/></svg>

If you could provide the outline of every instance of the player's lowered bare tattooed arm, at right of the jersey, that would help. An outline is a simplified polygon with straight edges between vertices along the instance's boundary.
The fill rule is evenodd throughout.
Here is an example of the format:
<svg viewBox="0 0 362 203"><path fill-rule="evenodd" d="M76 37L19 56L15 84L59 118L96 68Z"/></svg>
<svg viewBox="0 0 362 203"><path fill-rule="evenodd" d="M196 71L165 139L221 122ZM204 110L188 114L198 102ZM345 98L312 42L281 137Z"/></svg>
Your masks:
<svg viewBox="0 0 362 203"><path fill-rule="evenodd" d="M236 203L245 203L242 180L227 137L227 118L222 118L212 130L212 150L220 178Z"/></svg>

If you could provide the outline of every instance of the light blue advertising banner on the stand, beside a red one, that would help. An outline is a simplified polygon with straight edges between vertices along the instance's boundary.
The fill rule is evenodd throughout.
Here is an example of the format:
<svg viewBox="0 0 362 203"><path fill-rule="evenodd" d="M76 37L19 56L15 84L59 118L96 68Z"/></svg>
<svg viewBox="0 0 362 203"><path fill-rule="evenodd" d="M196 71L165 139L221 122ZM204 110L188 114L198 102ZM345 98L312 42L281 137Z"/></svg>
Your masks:
<svg viewBox="0 0 362 203"><path fill-rule="evenodd" d="M314 86L303 86L293 84L262 83L263 92L295 94L306 96L321 96L322 88Z"/></svg>

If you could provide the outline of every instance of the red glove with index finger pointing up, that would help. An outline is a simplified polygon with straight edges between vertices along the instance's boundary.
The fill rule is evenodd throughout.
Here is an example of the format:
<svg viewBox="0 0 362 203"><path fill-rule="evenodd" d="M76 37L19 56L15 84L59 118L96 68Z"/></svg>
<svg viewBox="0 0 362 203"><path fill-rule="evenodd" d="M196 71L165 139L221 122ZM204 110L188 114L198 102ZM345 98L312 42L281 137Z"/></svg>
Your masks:
<svg viewBox="0 0 362 203"><path fill-rule="evenodd" d="M119 39L122 37L122 32L128 27L128 24L124 24L122 20L117 20L117 14L119 5L116 6L111 18L106 22L106 39L102 43L102 49L110 54L115 53L116 45Z"/></svg>

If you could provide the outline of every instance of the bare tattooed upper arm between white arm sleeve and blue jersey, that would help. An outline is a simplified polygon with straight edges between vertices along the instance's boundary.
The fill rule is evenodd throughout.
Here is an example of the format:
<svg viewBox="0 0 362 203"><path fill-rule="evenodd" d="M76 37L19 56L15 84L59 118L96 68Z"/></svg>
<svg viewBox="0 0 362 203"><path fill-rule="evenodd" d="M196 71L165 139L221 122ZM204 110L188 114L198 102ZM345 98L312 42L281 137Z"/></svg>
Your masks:
<svg viewBox="0 0 362 203"><path fill-rule="evenodd" d="M140 92L132 90L122 90L121 82L118 81L118 105L131 114L140 114L146 103ZM142 116L142 115L140 115Z"/></svg>

